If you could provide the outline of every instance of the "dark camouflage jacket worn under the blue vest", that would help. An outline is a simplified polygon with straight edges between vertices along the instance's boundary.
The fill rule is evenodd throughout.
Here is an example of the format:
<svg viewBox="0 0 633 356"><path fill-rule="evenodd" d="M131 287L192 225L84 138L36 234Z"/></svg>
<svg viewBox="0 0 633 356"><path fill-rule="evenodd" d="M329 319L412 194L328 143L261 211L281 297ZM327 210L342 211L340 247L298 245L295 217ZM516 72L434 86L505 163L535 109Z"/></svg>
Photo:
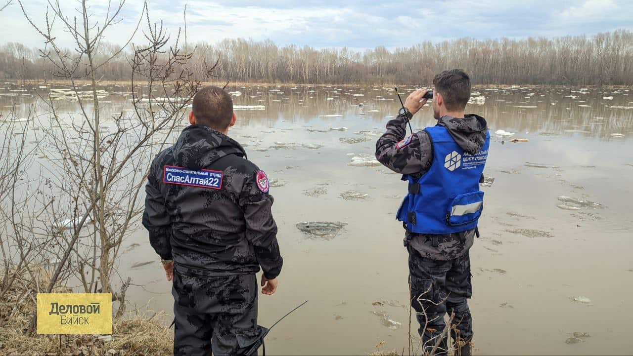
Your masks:
<svg viewBox="0 0 633 356"><path fill-rule="evenodd" d="M481 116L471 114L465 118L442 116L437 125L445 126L451 137L465 151L475 154L484 145L487 124ZM397 116L387 122L385 132L376 142L376 159L387 168L403 175L422 175L433 161L433 145L429 135L420 130L406 135L406 116ZM418 250L424 257L436 260L456 259L473 244L475 230L446 235L417 234L406 231L404 246Z"/></svg>

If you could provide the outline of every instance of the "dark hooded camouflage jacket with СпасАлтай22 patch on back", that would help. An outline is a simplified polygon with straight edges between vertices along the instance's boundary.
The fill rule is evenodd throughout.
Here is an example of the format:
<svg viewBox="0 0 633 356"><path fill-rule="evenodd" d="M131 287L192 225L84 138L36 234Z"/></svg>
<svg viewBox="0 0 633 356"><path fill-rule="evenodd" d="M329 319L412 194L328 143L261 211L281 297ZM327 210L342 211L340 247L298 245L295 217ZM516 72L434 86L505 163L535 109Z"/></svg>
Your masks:
<svg viewBox="0 0 633 356"><path fill-rule="evenodd" d="M275 278L283 260L268 188L235 140L189 126L151 165L142 221L149 243L188 273L252 274L261 266Z"/></svg>

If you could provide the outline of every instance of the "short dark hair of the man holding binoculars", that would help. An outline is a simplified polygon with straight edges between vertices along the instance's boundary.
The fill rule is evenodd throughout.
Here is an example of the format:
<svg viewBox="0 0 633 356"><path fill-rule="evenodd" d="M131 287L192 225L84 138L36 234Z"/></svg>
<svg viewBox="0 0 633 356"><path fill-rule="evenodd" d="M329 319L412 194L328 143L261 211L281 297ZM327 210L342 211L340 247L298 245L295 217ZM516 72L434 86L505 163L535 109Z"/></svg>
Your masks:
<svg viewBox="0 0 633 356"><path fill-rule="evenodd" d="M470 99L470 78L461 69L445 70L433 78L436 92L442 94L449 110L463 110Z"/></svg>

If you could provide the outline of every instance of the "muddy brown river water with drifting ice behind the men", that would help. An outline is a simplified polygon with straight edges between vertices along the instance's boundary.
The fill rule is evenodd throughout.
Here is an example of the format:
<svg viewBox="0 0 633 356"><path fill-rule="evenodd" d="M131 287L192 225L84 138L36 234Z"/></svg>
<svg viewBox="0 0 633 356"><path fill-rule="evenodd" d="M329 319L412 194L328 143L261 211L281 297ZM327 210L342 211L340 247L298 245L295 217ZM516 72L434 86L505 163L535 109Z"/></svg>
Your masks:
<svg viewBox="0 0 633 356"><path fill-rule="evenodd" d="M18 116L30 104L41 111L34 87L0 84L0 94L9 94L0 96L0 111L7 113L13 104ZM27 91L11 91L22 89ZM334 85L229 90L242 93L233 97L241 107L230 136L280 182L271 193L285 264L277 293L260 295L259 322L270 326L309 300L273 329L266 339L268 353L365 354L380 341L386 342L381 350L404 347L406 353L408 310L398 305L408 304L407 254L394 216L406 185L382 166L358 164L373 155L377 137L372 132L382 132L389 116L396 115L397 97L388 88ZM485 174L494 178L482 188L482 236L470 250L476 352L630 353L633 90L515 86L473 91L486 98L483 104L468 104L467 113L488 120L492 142ZM129 106L128 99L125 94L104 97L104 111L120 111ZM65 113L77 111L76 102L60 101L59 106ZM433 123L429 106L413 120L415 129ZM497 130L529 142L511 143L496 137ZM341 194L348 191L367 197L344 199ZM561 196L601 207L565 209L572 205L565 202L561 208ZM296 228L300 221L346 225L334 238L307 238ZM135 285L144 285L130 293L130 302L170 312L171 287L146 233L137 230L125 241L128 246L119 269ZM393 303L375 303L380 300ZM401 325L381 320L385 315ZM412 329L417 329L415 320ZM585 334L591 337L574 336Z"/></svg>

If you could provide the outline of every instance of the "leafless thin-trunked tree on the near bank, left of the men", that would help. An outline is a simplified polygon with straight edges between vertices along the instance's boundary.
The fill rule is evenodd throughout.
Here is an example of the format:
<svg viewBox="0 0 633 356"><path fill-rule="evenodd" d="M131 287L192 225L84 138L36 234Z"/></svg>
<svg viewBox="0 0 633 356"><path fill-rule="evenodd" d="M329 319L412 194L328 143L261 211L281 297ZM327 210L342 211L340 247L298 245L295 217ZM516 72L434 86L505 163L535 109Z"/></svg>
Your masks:
<svg viewBox="0 0 633 356"><path fill-rule="evenodd" d="M18 2L27 21L44 38L39 56L51 74L69 86L48 86L41 94L48 120L41 130L41 147L49 155L44 175L49 177L47 196L53 198L46 204L51 226L47 233L61 250L60 261L41 289L49 293L60 281L72 278L84 292L112 293L113 300L120 302L118 317L125 310L130 285L129 278L116 272L118 257L125 238L139 226L149 163L184 123L187 107L201 85L188 69L195 48L184 51L180 30L172 38L162 22L153 23L147 3L136 27L146 23L144 43L132 44L134 30L125 46L104 51L105 33L121 20L124 0L110 2L100 21L94 20L86 0L78 3L78 15L73 18L65 15L59 1L50 1L45 27L35 25L22 0ZM54 23L70 34L75 50L58 46ZM105 86L101 81L107 66L128 44L132 107L106 116L101 102L109 94L101 89ZM203 78L213 75L215 65L201 64ZM76 102L79 113L58 112L58 104L64 101ZM29 333L34 326L35 316Z"/></svg>

